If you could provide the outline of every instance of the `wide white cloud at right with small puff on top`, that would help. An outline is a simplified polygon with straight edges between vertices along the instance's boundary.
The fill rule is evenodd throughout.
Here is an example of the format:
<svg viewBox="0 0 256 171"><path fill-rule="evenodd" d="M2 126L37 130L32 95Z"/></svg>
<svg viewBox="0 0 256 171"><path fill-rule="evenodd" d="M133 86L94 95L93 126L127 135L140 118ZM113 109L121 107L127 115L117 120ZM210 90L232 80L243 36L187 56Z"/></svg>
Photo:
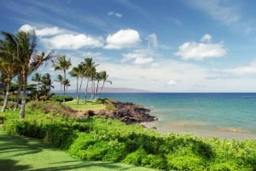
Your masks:
<svg viewBox="0 0 256 171"><path fill-rule="evenodd" d="M205 58L218 58L227 54L224 43L204 43L211 41L211 35L205 35L201 38L201 43L188 42L179 46L176 55L181 56L183 60L203 60Z"/></svg>

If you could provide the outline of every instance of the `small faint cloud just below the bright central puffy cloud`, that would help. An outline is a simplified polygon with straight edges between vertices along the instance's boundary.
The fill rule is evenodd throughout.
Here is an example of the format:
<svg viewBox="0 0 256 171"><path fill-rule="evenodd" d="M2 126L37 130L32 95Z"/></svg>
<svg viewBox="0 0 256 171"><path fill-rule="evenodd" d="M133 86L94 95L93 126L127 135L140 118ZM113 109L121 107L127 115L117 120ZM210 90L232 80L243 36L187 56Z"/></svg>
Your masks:
<svg viewBox="0 0 256 171"><path fill-rule="evenodd" d="M150 49L137 49L129 54L123 54L122 62L133 61L134 64L143 65L153 62L154 52Z"/></svg>

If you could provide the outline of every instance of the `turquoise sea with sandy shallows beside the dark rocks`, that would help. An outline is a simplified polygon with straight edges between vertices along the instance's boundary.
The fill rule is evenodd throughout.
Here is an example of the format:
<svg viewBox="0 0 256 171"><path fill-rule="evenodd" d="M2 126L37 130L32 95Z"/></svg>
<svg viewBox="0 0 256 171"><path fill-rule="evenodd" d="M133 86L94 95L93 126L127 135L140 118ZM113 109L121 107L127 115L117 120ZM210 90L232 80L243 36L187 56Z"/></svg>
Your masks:
<svg viewBox="0 0 256 171"><path fill-rule="evenodd" d="M163 134L256 139L256 93L108 93L101 98L151 109L159 120L143 124Z"/></svg>

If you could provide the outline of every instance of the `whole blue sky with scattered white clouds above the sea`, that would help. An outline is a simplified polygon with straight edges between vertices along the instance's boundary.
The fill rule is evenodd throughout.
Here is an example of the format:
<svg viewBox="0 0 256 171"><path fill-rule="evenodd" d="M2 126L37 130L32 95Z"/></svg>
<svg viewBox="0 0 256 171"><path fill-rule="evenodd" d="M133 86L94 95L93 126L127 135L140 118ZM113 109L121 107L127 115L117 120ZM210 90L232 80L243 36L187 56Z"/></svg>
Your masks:
<svg viewBox="0 0 256 171"><path fill-rule="evenodd" d="M255 92L255 8L253 0L1 0L0 30L35 29L38 50L66 54L73 66L92 57L116 88Z"/></svg>

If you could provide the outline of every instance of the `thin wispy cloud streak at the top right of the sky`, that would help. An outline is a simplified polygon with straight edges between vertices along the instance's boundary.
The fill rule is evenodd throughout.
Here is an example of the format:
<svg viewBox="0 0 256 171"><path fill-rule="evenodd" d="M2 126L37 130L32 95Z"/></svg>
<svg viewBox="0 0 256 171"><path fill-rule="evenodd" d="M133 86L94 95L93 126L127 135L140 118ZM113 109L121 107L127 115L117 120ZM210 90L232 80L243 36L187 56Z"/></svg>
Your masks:
<svg viewBox="0 0 256 171"><path fill-rule="evenodd" d="M226 24L235 23L240 20L240 14L232 4L224 5L219 0L191 0L191 6L195 9L201 9L212 16L214 20L221 20Z"/></svg>

